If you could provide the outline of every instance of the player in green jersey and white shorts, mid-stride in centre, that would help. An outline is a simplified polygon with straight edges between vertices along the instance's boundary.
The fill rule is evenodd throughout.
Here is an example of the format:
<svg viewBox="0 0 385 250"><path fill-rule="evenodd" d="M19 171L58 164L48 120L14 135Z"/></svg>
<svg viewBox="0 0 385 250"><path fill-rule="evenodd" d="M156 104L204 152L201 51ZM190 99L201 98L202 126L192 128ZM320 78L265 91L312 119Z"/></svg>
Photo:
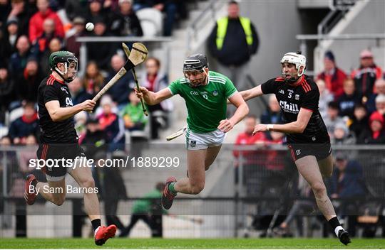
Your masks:
<svg viewBox="0 0 385 250"><path fill-rule="evenodd" d="M190 55L183 63L185 77L175 80L159 92L140 87L135 89L146 104L155 105L179 94L188 109L188 177L166 180L162 205L168 210L178 192L197 195L205 187L205 170L215 161L225 134L248 113L249 108L232 82L217 72L209 71L207 58L202 54ZM237 107L235 114L226 118L227 99Z"/></svg>

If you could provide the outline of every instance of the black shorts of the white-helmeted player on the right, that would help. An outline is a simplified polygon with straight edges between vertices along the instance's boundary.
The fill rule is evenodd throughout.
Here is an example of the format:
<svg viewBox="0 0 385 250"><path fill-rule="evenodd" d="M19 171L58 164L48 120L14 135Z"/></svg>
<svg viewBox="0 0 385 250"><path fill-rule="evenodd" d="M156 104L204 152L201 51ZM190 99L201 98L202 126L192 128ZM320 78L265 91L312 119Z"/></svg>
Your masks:
<svg viewBox="0 0 385 250"><path fill-rule="evenodd" d="M293 161L297 161L304 156L315 156L317 161L327 158L332 153L329 136L317 138L312 143L294 143L288 141L288 147L292 154Z"/></svg>

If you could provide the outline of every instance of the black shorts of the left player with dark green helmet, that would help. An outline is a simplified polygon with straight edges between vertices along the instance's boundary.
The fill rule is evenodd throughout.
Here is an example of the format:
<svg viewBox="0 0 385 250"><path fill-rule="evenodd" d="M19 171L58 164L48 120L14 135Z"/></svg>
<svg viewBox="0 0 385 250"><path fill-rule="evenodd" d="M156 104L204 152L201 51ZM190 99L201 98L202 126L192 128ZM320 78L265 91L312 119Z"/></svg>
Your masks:
<svg viewBox="0 0 385 250"><path fill-rule="evenodd" d="M43 170L43 173L46 173L46 175L49 175L50 177L53 177L53 179L58 180L58 178L61 178L66 175L69 167L71 167L71 164L67 164L68 162L63 163L63 161L56 161L55 160L75 160L76 157L86 157L84 154L83 148L78 145L78 143L71 143L71 144L58 144L58 143L41 143L39 144L39 148L36 152L38 159L43 159L46 161L46 165L41 168ZM53 160L53 161L50 161ZM54 166L52 166L54 164ZM51 166L50 166L51 165ZM51 180L53 180L51 178ZM48 177L47 177L48 180Z"/></svg>

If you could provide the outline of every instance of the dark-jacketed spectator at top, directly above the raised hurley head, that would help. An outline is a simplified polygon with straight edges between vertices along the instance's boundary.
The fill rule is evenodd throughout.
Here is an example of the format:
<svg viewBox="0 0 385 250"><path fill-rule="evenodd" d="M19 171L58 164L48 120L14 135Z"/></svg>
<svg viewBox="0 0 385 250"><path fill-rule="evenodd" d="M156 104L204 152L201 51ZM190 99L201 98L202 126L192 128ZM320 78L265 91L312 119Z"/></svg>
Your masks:
<svg viewBox="0 0 385 250"><path fill-rule="evenodd" d="M111 32L115 36L143 36L131 0L119 0L119 10L112 17Z"/></svg>

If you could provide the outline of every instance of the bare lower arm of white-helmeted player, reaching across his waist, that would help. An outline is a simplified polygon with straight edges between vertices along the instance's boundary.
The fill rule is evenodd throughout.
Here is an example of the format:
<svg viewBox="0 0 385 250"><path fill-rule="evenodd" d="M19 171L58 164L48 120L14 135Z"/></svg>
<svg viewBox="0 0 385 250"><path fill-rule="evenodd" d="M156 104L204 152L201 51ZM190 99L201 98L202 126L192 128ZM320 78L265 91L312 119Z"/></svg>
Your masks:
<svg viewBox="0 0 385 250"><path fill-rule="evenodd" d="M309 109L300 109L297 121L288 124L258 124L255 126L253 134L264 131L277 131L286 134L301 134L304 132L313 112Z"/></svg>

